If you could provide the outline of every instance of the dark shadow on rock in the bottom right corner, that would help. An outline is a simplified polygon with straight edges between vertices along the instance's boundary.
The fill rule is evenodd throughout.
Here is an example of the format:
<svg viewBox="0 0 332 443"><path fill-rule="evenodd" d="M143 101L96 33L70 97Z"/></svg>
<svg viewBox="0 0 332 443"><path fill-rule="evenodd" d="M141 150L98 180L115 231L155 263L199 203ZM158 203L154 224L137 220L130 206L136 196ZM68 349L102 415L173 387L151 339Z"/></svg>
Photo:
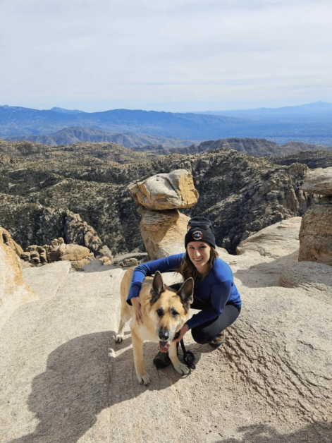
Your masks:
<svg viewBox="0 0 332 443"><path fill-rule="evenodd" d="M226 438L216 443L330 443L332 441L332 423L310 423L300 430L289 434L280 434L268 425L240 427L243 433L241 440Z"/></svg>

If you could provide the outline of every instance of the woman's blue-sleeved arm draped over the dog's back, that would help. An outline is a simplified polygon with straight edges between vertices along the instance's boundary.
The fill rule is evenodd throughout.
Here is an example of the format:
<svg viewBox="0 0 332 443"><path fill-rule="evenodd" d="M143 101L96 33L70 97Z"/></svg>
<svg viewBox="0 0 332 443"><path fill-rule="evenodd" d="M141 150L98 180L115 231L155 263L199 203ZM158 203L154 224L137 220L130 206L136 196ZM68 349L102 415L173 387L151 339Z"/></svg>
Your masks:
<svg viewBox="0 0 332 443"><path fill-rule="evenodd" d="M132 304L131 298L138 297L140 294L142 281L145 277L153 275L156 271L162 273L176 269L184 256L184 254L169 255L168 257L159 258L159 260L153 260L135 267L127 298L128 305Z"/></svg>

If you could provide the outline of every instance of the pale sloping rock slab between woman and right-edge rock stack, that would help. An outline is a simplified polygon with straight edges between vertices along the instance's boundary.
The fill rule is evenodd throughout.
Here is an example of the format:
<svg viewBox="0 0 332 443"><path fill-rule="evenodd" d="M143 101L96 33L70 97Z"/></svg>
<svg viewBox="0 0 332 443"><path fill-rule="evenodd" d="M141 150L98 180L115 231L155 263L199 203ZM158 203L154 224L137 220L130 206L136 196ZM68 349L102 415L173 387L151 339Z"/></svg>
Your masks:
<svg viewBox="0 0 332 443"><path fill-rule="evenodd" d="M271 258L290 255L297 251L300 246L301 221L301 217L293 217L267 226L267 228L242 241L236 248L236 253L238 255L259 253Z"/></svg>

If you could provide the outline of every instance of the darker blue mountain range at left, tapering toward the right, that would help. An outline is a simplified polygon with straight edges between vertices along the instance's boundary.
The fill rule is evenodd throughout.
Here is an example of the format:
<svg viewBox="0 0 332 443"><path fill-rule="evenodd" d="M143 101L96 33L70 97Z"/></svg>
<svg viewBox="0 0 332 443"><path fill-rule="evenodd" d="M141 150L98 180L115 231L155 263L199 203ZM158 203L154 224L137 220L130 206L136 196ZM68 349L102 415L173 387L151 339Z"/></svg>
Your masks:
<svg viewBox="0 0 332 443"><path fill-rule="evenodd" d="M76 112L76 111L75 111ZM232 128L248 126L233 117L114 109L104 112L66 113L0 106L0 137L39 135L67 127L94 128L121 133L143 133L184 139L220 138ZM232 129L233 130L233 129Z"/></svg>

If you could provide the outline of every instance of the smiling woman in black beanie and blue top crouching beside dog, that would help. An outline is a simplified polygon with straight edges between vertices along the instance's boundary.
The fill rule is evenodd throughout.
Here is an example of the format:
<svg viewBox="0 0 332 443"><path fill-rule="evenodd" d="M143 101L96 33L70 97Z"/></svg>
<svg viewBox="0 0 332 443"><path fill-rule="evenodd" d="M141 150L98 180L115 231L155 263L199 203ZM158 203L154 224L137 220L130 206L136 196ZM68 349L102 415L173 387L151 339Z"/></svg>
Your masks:
<svg viewBox="0 0 332 443"><path fill-rule="evenodd" d="M190 219L185 234L185 254L170 255L135 268L127 303L133 305L137 322L142 322L138 295L145 277L174 270L183 279L195 281L192 309L200 310L180 329L180 341L191 329L193 339L199 344L218 348L225 339L225 329L240 314L241 299L233 281L229 265L218 257L211 222L204 217ZM178 289L180 284L171 287ZM168 352L159 351L154 358L157 368L171 363Z"/></svg>

